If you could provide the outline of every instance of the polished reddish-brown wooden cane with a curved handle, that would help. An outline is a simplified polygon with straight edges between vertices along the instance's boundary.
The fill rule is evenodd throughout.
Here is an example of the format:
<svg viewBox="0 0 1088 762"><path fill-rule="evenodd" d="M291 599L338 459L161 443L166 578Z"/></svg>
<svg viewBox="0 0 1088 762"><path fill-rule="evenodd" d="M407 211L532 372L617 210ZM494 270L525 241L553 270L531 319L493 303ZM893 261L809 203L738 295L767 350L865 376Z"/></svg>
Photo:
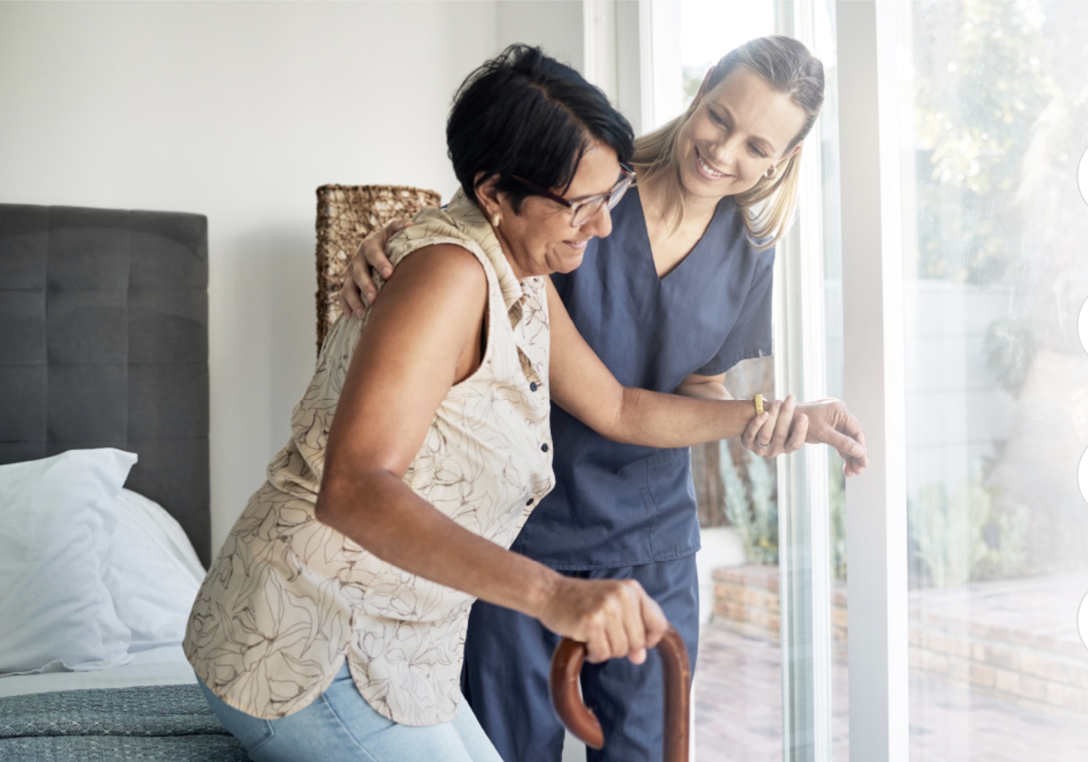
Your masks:
<svg viewBox="0 0 1088 762"><path fill-rule="evenodd" d="M665 667L665 749L664 762L688 762L689 696L691 662L683 638L671 625L657 644ZM552 656L552 703L559 720L586 746L605 745L601 723L586 709L578 690L578 677L585 661L585 643L564 638Z"/></svg>

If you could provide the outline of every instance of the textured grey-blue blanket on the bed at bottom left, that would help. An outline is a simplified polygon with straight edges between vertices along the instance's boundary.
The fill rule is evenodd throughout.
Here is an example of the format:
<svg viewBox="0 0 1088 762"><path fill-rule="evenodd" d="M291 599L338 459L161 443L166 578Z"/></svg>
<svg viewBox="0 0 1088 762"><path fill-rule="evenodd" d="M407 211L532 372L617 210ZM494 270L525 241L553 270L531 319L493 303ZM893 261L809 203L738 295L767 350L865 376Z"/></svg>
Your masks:
<svg viewBox="0 0 1088 762"><path fill-rule="evenodd" d="M0 760L245 762L195 685L0 699Z"/></svg>

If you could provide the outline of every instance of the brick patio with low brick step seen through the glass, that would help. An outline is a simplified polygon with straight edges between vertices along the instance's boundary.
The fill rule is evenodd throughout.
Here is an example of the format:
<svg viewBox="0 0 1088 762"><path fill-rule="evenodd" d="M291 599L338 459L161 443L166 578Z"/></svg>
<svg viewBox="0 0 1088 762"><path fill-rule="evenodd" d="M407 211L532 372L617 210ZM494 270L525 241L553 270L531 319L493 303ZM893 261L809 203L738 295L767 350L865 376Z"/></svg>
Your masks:
<svg viewBox="0 0 1088 762"><path fill-rule="evenodd" d="M696 759L779 760L777 567L718 569L716 579L696 671ZM1086 590L1088 579L1063 575L914 593L912 762L1088 758L1088 650L1075 630ZM834 599L832 753L846 762L845 591Z"/></svg>

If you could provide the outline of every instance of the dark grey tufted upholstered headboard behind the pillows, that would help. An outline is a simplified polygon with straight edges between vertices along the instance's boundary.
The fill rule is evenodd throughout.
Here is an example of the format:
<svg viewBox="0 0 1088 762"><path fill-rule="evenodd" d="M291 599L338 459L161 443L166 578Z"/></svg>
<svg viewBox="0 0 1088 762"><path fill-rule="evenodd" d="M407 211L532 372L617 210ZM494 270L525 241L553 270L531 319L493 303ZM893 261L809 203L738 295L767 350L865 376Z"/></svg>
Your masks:
<svg viewBox="0 0 1088 762"><path fill-rule="evenodd" d="M0 464L102 446L208 565L208 220L0 205Z"/></svg>

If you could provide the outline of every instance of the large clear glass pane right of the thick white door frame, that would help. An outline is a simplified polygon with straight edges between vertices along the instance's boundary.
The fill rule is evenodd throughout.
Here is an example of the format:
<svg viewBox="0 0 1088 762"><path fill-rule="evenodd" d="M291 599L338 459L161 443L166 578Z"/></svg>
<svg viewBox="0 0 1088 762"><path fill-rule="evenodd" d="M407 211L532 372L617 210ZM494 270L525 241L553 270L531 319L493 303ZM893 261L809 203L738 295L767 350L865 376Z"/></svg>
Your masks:
<svg viewBox="0 0 1088 762"><path fill-rule="evenodd" d="M913 760L1088 751L1088 8L914 2L904 160Z"/></svg>

